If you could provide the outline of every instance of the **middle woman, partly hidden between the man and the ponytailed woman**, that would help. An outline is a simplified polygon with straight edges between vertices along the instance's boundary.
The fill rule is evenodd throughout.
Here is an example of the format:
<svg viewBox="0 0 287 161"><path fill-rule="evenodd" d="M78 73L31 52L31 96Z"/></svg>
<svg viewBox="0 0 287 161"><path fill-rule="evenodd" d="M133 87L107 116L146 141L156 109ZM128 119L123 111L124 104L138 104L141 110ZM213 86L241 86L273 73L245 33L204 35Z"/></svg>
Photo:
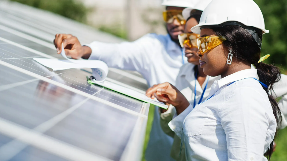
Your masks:
<svg viewBox="0 0 287 161"><path fill-rule="evenodd" d="M187 98L190 104L193 104L193 107L180 112L176 111L173 106L169 106L167 112L161 113L162 129L164 132L174 137L170 155L176 161L186 160L184 150L182 150L181 155L179 155L181 145L181 128L184 118L192 111L196 104L201 103L207 98L213 82L221 78L220 76L207 76L203 73L203 69L199 67L200 57L197 56L196 53L198 51L197 38L200 35L190 31L191 27L199 24L201 13L210 3L210 1L211 0L200 1L195 5L195 10L192 10L192 8L184 9L188 9L188 15L187 13L185 15L183 14L184 19L186 19L185 30L183 34L178 36L181 47L184 48L184 53L189 63L184 64L180 68L179 74L176 78L175 87L181 91L181 93ZM205 7L203 7L204 5ZM201 8L197 6L201 6Z"/></svg>

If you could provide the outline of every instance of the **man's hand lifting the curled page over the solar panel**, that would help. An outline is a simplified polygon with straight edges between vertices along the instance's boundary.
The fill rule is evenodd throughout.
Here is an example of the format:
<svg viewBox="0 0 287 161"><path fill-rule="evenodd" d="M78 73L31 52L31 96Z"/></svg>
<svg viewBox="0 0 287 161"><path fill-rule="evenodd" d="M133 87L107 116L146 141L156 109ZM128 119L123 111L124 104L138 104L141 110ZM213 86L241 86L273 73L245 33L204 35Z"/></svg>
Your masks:
<svg viewBox="0 0 287 161"><path fill-rule="evenodd" d="M54 45L57 48L57 53L62 52L62 43L67 56L73 59L88 59L91 55L91 48L82 46L77 37L71 34L57 34L55 35Z"/></svg>

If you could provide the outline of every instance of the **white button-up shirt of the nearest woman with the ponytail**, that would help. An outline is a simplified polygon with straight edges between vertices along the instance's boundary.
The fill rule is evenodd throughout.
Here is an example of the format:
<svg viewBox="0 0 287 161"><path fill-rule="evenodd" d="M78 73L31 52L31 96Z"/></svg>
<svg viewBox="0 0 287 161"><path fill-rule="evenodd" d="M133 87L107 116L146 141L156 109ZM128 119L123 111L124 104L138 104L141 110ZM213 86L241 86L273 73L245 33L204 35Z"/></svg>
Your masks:
<svg viewBox="0 0 287 161"><path fill-rule="evenodd" d="M257 70L245 69L214 81L210 99L184 121L187 160L267 160L263 154L277 124L266 92L253 78Z"/></svg>

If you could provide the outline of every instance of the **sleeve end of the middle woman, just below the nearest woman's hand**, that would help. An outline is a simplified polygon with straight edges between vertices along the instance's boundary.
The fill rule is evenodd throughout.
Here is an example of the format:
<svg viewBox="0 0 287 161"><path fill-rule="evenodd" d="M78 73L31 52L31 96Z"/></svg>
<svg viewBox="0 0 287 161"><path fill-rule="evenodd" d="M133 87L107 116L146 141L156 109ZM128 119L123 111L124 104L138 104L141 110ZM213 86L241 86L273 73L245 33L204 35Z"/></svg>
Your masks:
<svg viewBox="0 0 287 161"><path fill-rule="evenodd" d="M170 129L168 123L172 120L172 117L175 112L175 107L170 105L166 112L161 113L160 119L161 129L164 131L164 133L168 134L171 137L174 137L174 132Z"/></svg>

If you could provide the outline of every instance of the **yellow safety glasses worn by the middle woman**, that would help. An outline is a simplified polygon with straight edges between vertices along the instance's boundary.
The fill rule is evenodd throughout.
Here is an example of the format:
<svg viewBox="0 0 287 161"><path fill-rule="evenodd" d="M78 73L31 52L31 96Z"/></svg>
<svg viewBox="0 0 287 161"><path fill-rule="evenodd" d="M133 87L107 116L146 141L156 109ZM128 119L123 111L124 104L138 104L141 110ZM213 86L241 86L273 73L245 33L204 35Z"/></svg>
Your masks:
<svg viewBox="0 0 287 161"><path fill-rule="evenodd" d="M183 48L185 44L187 44L190 48L196 47L197 48L197 38L200 35L196 33L183 33L178 35L178 40L180 46Z"/></svg>

